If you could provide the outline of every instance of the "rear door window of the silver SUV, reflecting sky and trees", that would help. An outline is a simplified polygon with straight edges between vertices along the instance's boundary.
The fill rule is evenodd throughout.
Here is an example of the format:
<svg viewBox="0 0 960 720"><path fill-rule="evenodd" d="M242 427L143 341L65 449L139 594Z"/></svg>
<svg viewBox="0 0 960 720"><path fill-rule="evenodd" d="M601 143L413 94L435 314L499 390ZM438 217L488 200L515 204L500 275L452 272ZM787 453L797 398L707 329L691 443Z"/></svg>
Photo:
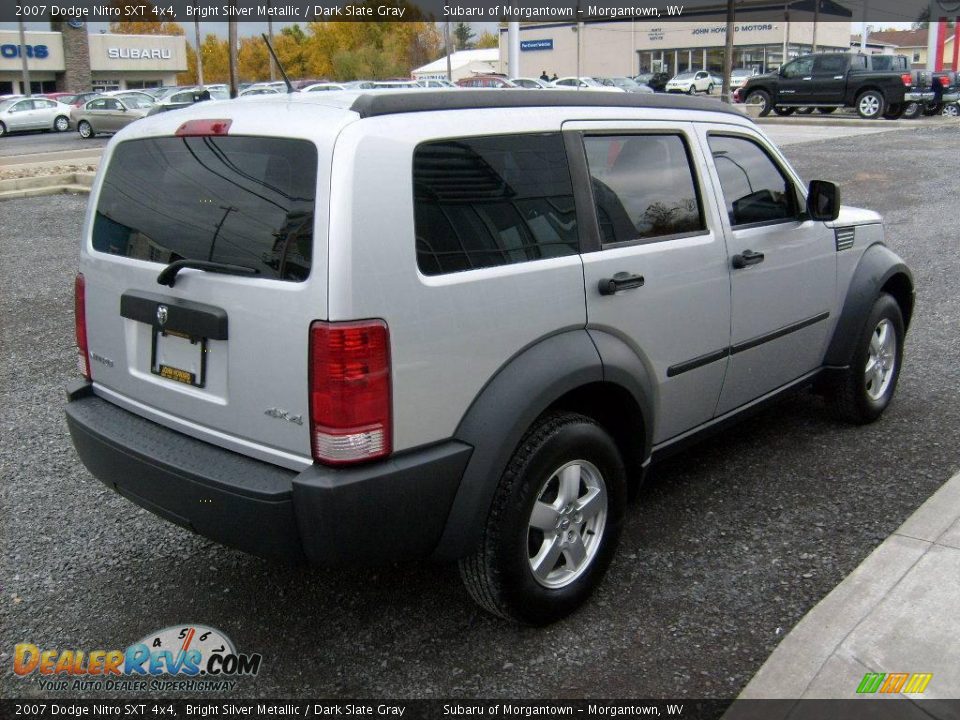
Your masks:
<svg viewBox="0 0 960 720"><path fill-rule="evenodd" d="M705 229L690 157L679 135L584 138L603 243Z"/></svg>

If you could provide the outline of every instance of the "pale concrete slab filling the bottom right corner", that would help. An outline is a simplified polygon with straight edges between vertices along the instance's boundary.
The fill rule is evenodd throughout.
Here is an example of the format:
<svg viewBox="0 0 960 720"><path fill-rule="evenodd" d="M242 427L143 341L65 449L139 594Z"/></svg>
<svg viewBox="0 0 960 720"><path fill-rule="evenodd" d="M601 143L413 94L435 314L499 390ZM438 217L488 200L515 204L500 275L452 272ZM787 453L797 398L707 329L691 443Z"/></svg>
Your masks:
<svg viewBox="0 0 960 720"><path fill-rule="evenodd" d="M738 699L855 699L867 672L932 672L941 682L923 697L956 697L960 672L948 666L960 625L949 599L958 561L960 473L807 613ZM910 633L913 617L921 624Z"/></svg>

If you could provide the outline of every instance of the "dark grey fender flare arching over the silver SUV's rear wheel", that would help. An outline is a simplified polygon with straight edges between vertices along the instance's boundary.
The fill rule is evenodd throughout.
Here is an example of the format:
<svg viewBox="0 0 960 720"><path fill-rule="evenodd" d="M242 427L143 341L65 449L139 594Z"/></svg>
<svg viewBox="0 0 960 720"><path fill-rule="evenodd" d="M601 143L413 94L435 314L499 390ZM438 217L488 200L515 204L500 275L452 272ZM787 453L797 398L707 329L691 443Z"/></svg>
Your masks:
<svg viewBox="0 0 960 720"><path fill-rule="evenodd" d="M604 333L599 335L603 336ZM623 343L610 336L601 344L611 365L585 328L544 338L511 358L480 391L460 420L453 439L474 448L460 481L433 559L449 561L473 552L483 533L490 504L504 468L524 433L553 403L567 393L605 379L605 370L634 394L646 413L652 404L642 377L642 363ZM616 348L619 343L623 347ZM634 364L625 360L633 355ZM645 419L650 415L644 415ZM649 423L644 423L648 425ZM649 433L652 430L648 431ZM649 456L649 439L644 449Z"/></svg>

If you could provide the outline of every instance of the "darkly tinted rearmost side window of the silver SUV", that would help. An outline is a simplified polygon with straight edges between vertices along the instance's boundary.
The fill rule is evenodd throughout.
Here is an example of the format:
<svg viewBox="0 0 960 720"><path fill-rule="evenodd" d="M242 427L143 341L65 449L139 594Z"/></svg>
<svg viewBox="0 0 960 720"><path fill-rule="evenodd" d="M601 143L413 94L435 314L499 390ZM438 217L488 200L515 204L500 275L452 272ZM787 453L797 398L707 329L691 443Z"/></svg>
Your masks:
<svg viewBox="0 0 960 720"><path fill-rule="evenodd" d="M414 152L413 187L424 275L579 252L559 133L424 143Z"/></svg>

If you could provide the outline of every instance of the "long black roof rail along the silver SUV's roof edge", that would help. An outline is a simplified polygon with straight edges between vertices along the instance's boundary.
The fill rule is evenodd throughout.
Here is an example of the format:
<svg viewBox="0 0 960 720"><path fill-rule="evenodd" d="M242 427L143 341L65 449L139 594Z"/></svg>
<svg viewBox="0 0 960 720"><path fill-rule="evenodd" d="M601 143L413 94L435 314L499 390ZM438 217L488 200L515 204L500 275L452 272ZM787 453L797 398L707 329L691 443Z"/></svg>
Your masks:
<svg viewBox="0 0 960 720"><path fill-rule="evenodd" d="M700 110L746 117L719 100L666 93L612 93L590 90L434 90L369 93L354 100L350 109L360 117L511 107L631 107L667 110Z"/></svg>

